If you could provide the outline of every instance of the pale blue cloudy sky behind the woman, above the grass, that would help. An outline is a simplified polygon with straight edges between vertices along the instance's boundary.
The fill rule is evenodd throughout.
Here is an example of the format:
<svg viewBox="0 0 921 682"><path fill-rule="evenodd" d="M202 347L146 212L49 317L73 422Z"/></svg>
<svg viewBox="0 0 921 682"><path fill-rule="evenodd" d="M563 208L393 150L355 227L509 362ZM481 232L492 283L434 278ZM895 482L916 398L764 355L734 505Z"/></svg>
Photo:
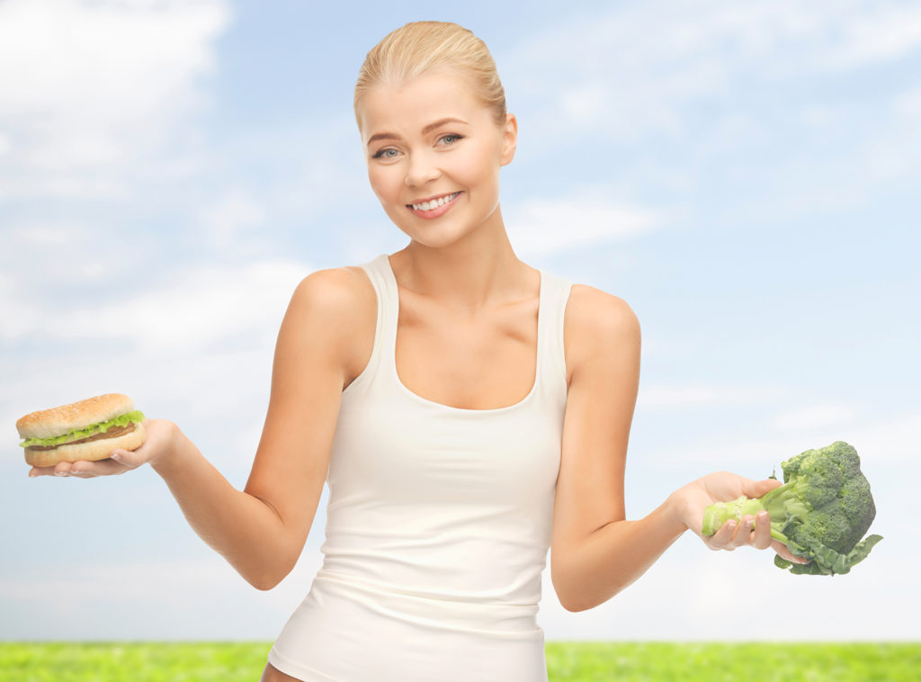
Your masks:
<svg viewBox="0 0 921 682"><path fill-rule="evenodd" d="M325 492L260 592L149 467L30 479L14 423L129 394L242 488L297 282L407 242L352 88L419 19L495 57L519 258L640 320L628 518L843 440L885 537L826 578L687 533L580 613L546 570L547 640L917 640L921 6L853 0L0 0L0 639L271 641L307 594Z"/></svg>

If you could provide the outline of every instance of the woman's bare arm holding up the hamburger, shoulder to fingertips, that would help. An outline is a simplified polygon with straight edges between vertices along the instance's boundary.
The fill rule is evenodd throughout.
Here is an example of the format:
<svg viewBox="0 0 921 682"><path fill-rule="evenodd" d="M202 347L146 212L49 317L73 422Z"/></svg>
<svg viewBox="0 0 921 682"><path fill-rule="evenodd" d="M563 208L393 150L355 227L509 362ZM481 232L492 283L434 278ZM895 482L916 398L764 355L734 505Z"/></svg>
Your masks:
<svg viewBox="0 0 921 682"><path fill-rule="evenodd" d="M272 392L246 488L234 488L175 424L147 419L145 444L33 475L106 476L149 463L192 529L259 589L297 563L321 497L354 329L356 276L321 270L298 285L275 347ZM354 344L352 344L354 346Z"/></svg>

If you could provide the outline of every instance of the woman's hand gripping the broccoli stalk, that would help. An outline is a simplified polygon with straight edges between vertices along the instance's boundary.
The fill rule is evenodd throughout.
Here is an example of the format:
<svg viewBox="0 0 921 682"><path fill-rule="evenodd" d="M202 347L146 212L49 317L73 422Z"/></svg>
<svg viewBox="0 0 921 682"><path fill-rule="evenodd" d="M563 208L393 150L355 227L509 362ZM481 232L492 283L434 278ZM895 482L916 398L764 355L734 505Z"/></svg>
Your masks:
<svg viewBox="0 0 921 682"><path fill-rule="evenodd" d="M675 494L680 500L683 523L699 535L707 547L729 551L744 546L755 549L770 547L787 561L808 563L806 559L800 559L791 554L786 545L771 537L771 518L767 512L758 512L756 517L747 515L740 523L729 520L723 523L714 535L701 535L704 509L708 505L735 500L742 495L747 498L760 498L768 490L780 485L782 485L780 481L773 478L753 481L751 478L721 471L698 478L694 483L689 483Z"/></svg>

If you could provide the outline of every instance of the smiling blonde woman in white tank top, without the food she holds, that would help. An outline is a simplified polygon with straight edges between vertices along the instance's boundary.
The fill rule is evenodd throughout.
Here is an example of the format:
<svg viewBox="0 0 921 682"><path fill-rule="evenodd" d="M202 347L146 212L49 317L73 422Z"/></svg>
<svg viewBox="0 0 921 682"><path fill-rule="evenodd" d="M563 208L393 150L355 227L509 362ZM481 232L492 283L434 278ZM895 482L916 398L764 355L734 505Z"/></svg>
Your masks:
<svg viewBox="0 0 921 682"><path fill-rule="evenodd" d="M246 488L164 420L134 452L37 473L151 464L262 590L294 567L328 480L323 566L266 682L545 680L548 547L560 602L592 608L699 535L707 504L779 484L712 474L624 519L639 325L624 300L512 250L499 172L518 123L482 41L437 22L393 31L367 55L355 110L371 187L410 242L297 286ZM753 521L705 543L794 559L766 513Z"/></svg>

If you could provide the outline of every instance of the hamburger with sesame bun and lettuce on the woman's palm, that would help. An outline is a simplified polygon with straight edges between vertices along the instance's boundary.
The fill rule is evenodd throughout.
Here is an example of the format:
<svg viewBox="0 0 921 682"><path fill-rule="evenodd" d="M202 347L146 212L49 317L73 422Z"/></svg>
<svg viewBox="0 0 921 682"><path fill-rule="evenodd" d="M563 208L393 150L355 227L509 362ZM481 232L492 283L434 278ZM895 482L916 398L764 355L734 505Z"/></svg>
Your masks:
<svg viewBox="0 0 921 682"><path fill-rule="evenodd" d="M32 412L17 419L26 463L106 459L115 448L136 450L146 439L144 414L127 395L104 394L77 403Z"/></svg>

